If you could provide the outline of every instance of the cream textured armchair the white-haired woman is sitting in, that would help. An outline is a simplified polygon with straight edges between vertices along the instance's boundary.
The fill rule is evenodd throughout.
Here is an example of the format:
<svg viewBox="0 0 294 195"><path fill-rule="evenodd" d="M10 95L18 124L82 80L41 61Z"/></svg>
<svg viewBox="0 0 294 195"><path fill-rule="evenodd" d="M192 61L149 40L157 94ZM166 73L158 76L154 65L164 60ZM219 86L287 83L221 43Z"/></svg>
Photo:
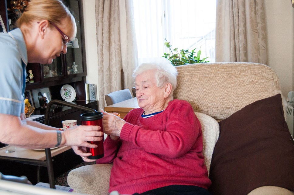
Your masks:
<svg viewBox="0 0 294 195"><path fill-rule="evenodd" d="M219 136L217 121L228 118L257 100L281 94L279 80L271 68L256 63L201 63L176 68L179 75L174 98L188 101L201 119L203 154L207 169L211 171L210 163ZM282 103L285 105L283 97ZM78 193L109 194L111 167L112 164L79 167L69 173L68 184ZM260 186L248 193L293 195L290 190Z"/></svg>

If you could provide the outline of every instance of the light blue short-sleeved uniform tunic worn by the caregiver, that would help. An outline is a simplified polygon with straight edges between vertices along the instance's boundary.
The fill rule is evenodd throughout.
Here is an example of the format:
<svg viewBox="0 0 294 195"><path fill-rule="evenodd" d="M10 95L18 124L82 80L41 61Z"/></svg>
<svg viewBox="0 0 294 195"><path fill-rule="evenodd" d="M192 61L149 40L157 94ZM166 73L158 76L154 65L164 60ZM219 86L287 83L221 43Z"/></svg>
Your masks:
<svg viewBox="0 0 294 195"><path fill-rule="evenodd" d="M24 113L26 88L26 43L20 29L0 35L0 113Z"/></svg>

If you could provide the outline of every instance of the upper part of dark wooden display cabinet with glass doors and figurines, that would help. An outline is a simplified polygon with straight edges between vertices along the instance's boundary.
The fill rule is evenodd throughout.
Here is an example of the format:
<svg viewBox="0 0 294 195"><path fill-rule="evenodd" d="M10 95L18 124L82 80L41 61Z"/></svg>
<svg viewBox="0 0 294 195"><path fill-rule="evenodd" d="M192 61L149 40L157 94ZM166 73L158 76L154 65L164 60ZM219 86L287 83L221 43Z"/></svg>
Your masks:
<svg viewBox="0 0 294 195"><path fill-rule="evenodd" d="M63 0L63 2L73 12L77 21L77 35L67 45L67 53L61 54L53 60L52 64L31 64L28 63L26 72L31 69L34 75L33 83L26 82L26 90L34 90L49 87L53 99L61 99L60 89L64 84L69 84L76 91L77 100L86 100L85 96L85 76L87 75L85 51L84 51L84 32L83 32L83 13L82 2L80 0ZM17 15L9 8L10 0L0 2L0 14L6 29L15 28L13 22ZM12 24L8 25L8 21ZM28 73L29 75L29 73ZM27 77L28 78L28 77Z"/></svg>

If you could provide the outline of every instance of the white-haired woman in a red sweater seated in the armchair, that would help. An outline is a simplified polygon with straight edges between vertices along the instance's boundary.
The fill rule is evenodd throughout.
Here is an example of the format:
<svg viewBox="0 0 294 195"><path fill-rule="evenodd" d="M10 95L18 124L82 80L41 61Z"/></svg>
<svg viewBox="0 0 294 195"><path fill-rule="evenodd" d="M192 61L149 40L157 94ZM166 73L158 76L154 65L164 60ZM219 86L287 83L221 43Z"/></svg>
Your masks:
<svg viewBox="0 0 294 195"><path fill-rule="evenodd" d="M103 116L105 156L112 163L109 191L121 194L209 194L200 122L192 106L173 99L176 68L168 61L139 66L135 77L140 108L124 119Z"/></svg>

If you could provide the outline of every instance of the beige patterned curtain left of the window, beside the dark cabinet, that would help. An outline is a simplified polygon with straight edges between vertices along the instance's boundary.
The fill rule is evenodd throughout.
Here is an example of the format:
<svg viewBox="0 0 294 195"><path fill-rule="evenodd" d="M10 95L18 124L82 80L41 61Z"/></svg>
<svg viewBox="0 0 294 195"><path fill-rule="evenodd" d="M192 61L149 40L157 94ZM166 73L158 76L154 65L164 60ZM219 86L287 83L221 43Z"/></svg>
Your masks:
<svg viewBox="0 0 294 195"><path fill-rule="evenodd" d="M134 86L138 52L132 0L95 0L95 7L98 100L104 108L104 95Z"/></svg>

